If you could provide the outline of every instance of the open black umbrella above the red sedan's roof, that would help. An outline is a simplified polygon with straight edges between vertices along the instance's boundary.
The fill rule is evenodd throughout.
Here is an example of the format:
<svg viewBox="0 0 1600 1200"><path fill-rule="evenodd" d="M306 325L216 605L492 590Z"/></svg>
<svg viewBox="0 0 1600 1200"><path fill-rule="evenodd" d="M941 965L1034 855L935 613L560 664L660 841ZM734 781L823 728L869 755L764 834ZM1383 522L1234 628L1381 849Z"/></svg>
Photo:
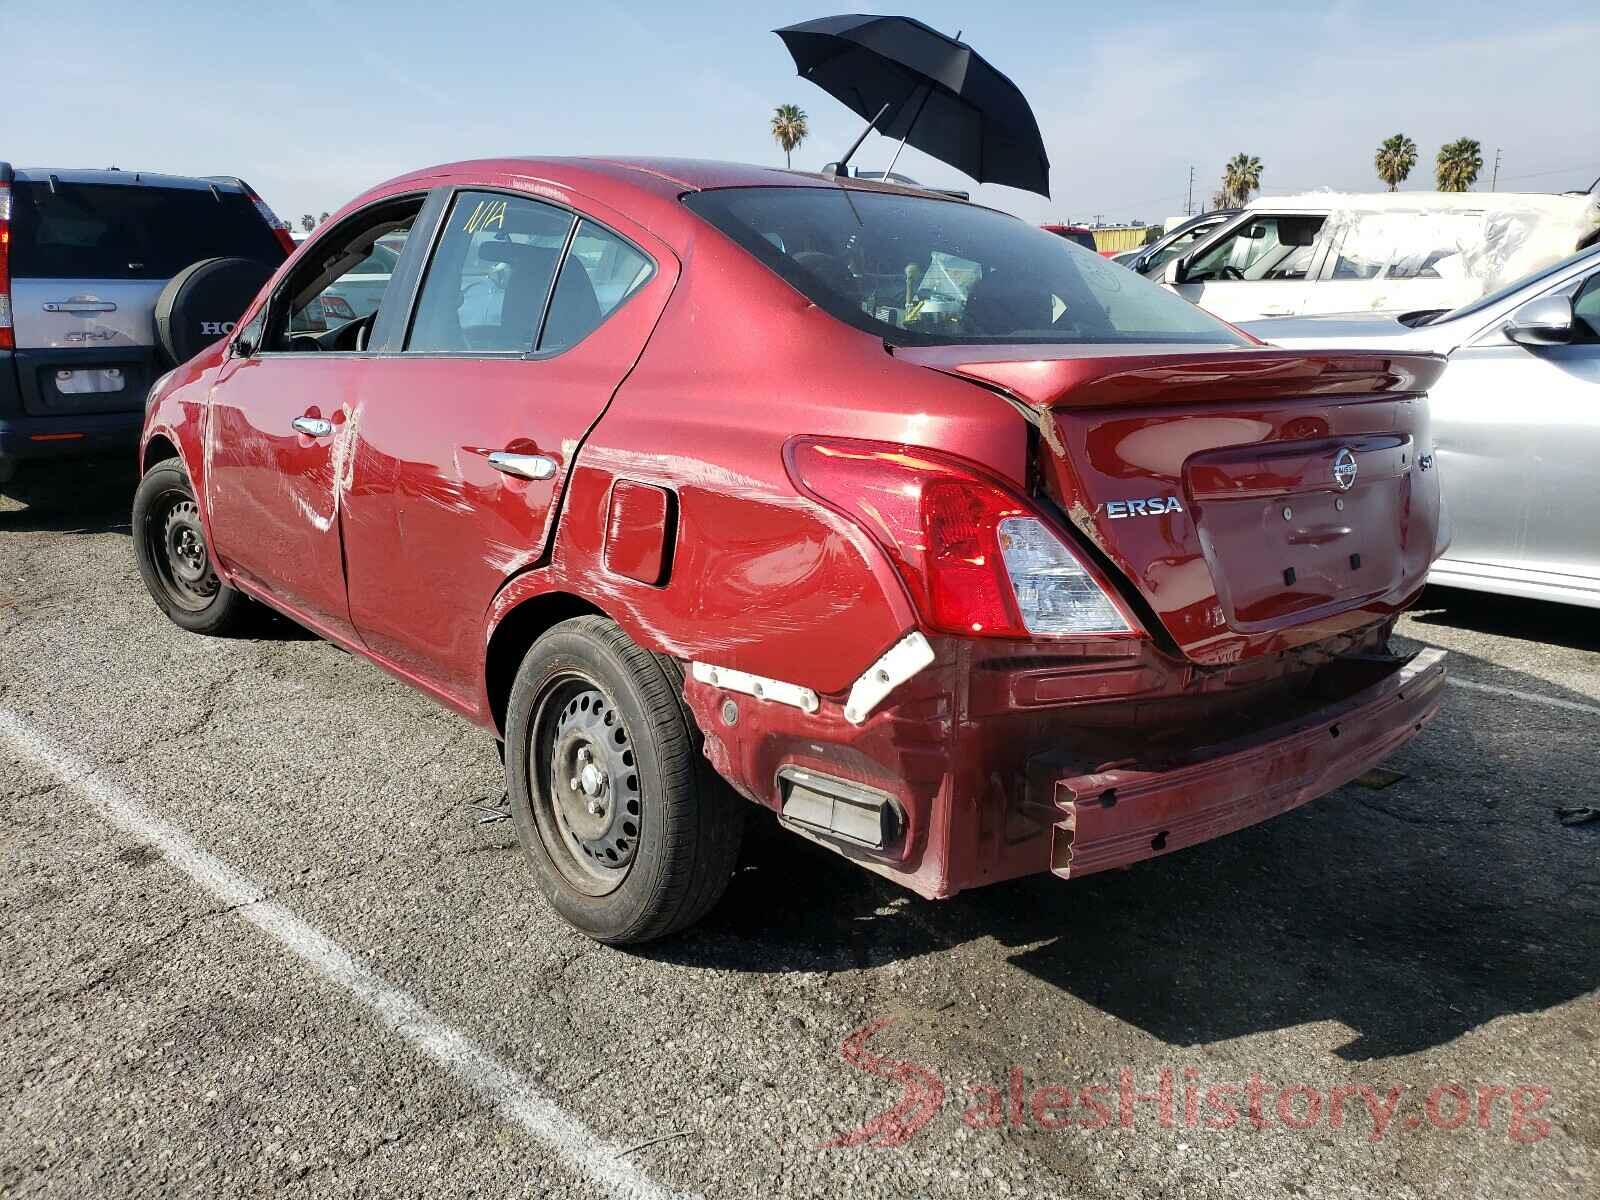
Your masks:
<svg viewBox="0 0 1600 1200"><path fill-rule="evenodd" d="M979 182L1050 195L1050 158L1034 110L965 42L909 16L824 16L773 32L803 78L867 120L840 171L875 128Z"/></svg>

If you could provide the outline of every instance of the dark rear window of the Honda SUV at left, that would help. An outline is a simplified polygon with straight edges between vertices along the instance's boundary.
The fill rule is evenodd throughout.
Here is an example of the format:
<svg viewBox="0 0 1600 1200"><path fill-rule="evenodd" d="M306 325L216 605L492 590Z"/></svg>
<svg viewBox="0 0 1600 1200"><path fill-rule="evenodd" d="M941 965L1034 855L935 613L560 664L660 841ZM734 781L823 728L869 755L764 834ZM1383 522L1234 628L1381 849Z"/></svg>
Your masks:
<svg viewBox="0 0 1600 1200"><path fill-rule="evenodd" d="M67 182L13 190L18 278L170 278L224 256L283 261L277 237L238 192Z"/></svg>

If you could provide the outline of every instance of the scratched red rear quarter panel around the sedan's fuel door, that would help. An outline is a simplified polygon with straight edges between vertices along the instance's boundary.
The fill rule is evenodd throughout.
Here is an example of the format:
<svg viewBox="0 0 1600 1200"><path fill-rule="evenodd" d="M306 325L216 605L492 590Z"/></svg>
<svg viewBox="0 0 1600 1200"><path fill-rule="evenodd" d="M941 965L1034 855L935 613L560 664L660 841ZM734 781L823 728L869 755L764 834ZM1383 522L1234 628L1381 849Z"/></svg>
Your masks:
<svg viewBox="0 0 1600 1200"><path fill-rule="evenodd" d="M571 589L653 650L842 701L915 614L867 536L797 491L784 443L957 446L1021 486L1027 422L982 389L896 360L714 230L690 230L680 253L645 354L578 454L550 570L512 581L490 624ZM675 498L661 586L606 570L618 480Z"/></svg>

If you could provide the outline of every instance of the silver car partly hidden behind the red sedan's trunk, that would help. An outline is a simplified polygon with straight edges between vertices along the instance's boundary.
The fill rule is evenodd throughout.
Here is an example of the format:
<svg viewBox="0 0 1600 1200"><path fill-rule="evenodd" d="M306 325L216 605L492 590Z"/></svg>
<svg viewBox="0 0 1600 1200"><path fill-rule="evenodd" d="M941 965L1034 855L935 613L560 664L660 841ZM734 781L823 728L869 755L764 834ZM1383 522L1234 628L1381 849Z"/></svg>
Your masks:
<svg viewBox="0 0 1600 1200"><path fill-rule="evenodd" d="M1243 328L1291 349L1448 355L1429 403L1454 536L1429 579L1600 608L1600 246L1451 312Z"/></svg>

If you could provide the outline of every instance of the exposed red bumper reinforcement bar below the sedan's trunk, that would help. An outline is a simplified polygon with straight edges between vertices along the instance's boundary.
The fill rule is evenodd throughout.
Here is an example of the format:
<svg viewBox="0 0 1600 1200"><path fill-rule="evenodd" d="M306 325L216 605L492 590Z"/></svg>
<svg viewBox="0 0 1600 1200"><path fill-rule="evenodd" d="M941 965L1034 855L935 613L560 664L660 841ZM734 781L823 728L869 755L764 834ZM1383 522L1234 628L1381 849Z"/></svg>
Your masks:
<svg viewBox="0 0 1600 1200"><path fill-rule="evenodd" d="M1424 650L1363 691L1170 770L1072 776L1038 760L1030 790L1056 811L1050 869L1077 878L1128 866L1315 800L1414 738L1443 688L1445 653Z"/></svg>

